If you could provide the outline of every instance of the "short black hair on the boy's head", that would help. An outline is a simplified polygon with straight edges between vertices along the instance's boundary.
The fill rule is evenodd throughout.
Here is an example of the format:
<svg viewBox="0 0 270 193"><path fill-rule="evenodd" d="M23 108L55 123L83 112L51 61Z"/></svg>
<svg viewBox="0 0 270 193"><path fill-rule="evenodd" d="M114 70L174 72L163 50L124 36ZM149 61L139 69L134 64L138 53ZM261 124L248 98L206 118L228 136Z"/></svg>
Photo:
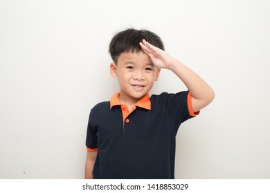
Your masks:
<svg viewBox="0 0 270 193"><path fill-rule="evenodd" d="M109 43L109 54L114 63L117 63L118 57L124 52L140 52L141 46L139 43L145 39L152 45L164 50L164 45L161 38L154 32L149 30L135 30L127 28L114 35Z"/></svg>

